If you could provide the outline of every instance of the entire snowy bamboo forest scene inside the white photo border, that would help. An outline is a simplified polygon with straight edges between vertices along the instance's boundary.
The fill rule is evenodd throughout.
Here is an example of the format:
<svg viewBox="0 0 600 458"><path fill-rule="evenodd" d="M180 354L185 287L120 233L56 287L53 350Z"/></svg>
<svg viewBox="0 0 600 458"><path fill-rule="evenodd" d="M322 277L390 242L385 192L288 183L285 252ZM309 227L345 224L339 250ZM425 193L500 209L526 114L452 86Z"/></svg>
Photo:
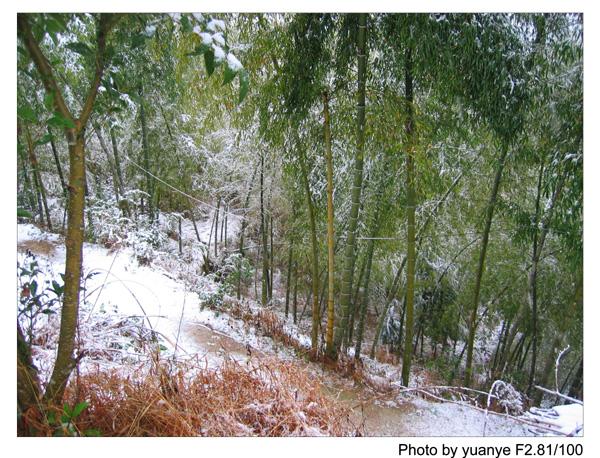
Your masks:
<svg viewBox="0 0 600 458"><path fill-rule="evenodd" d="M583 434L581 14L16 20L17 435Z"/></svg>

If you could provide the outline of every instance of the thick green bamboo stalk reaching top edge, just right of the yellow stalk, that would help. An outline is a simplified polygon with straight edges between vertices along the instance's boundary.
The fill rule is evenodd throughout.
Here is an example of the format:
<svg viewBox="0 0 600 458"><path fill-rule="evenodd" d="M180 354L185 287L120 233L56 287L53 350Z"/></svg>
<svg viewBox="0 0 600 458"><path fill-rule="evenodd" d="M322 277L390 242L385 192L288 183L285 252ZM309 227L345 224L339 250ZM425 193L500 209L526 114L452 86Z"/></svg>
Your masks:
<svg viewBox="0 0 600 458"><path fill-rule="evenodd" d="M358 58L358 90L356 97L356 156L354 159L354 178L352 182L352 204L348 221L348 238L344 253L344 269L342 274L342 291L340 296L341 316L335 334L334 349L339 351L348 327L350 312L350 295L354 276L356 228L358 226L358 210L363 180L363 155L365 147L365 84L367 80L367 14L358 15L357 35Z"/></svg>

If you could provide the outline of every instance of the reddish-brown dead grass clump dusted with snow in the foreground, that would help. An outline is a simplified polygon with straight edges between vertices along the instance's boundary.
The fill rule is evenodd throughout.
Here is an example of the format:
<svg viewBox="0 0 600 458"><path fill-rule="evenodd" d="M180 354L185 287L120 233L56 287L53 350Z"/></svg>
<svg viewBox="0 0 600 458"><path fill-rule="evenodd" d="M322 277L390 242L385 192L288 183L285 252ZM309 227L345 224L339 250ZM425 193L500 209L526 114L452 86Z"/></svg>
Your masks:
<svg viewBox="0 0 600 458"><path fill-rule="evenodd" d="M278 360L227 360L219 369L179 363L168 370L83 375L68 390L89 407L81 431L103 436L341 436L353 433L347 409L325 397L299 366ZM171 374L171 375L169 375ZM194 375L190 375L194 374Z"/></svg>

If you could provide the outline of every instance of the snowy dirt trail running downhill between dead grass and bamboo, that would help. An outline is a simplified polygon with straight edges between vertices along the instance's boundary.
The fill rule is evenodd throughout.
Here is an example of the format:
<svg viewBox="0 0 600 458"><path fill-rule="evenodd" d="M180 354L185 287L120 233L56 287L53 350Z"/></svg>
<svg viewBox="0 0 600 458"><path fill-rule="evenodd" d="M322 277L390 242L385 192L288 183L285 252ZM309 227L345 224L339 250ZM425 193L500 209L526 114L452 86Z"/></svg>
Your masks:
<svg viewBox="0 0 600 458"><path fill-rule="evenodd" d="M47 258L55 273L64 269L65 247L59 236L47 234L33 225L19 225L18 249L31 250ZM87 303L81 320L94 314L111 313L123 317L143 316L151 328L164 337L167 352L177 356L198 355L209 365L218 366L225 355L237 360L248 358L247 348L256 355L276 354L289 358L292 353L274 347L266 337L226 314L200 308L198 294L183 281L156 266L140 266L133 252L120 249L111 252L93 244L84 245L84 273L97 272L86 280ZM216 285L207 282L205 288ZM269 340L269 343L266 342ZM318 367L310 366L324 377L324 391L353 408L354 422L364 423L371 436L481 435L483 413L468 407L440 404L423 399L403 403L373 400L361 386ZM460 418L460 421L457 419ZM489 435L526 435L526 429L515 422L496 416L488 418Z"/></svg>

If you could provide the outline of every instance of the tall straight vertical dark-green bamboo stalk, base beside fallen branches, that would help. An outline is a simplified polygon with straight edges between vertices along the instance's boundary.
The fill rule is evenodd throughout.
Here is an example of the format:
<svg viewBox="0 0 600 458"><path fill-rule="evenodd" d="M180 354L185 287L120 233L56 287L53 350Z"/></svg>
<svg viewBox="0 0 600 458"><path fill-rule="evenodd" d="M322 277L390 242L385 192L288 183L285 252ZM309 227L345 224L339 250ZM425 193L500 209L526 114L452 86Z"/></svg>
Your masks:
<svg viewBox="0 0 600 458"><path fill-rule="evenodd" d="M404 355L402 357L402 384L408 386L412 357L412 337L415 296L415 165L414 165L414 107L413 107L413 69L412 48L406 50L404 67L407 137L406 151L406 328L404 336Z"/></svg>

